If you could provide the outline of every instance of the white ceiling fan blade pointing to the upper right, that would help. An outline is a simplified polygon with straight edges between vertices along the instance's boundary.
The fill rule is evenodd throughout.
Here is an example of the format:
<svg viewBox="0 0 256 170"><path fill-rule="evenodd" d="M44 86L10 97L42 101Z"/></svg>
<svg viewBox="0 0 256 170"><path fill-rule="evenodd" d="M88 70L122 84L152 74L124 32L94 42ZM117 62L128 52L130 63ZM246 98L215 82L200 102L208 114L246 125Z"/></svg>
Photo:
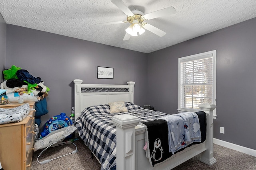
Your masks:
<svg viewBox="0 0 256 170"><path fill-rule="evenodd" d="M169 15L172 15L172 14L175 14L175 13L176 13L175 8L173 8L171 6L171 7L168 7L168 8L164 8L162 10L158 10L158 11L155 11L155 12L145 14L145 15L142 16L142 18L144 20L151 20L153 18L159 18L159 17L162 17L162 16L169 16Z"/></svg>

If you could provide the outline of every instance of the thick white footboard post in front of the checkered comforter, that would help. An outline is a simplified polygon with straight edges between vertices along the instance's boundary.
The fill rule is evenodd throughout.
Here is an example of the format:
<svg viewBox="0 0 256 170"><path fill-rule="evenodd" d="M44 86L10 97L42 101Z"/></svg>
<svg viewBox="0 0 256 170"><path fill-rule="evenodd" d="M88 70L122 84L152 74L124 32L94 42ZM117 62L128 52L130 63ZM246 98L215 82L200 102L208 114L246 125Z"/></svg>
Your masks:
<svg viewBox="0 0 256 170"><path fill-rule="evenodd" d="M112 117L116 125L116 169L135 169L135 129L140 119L123 114Z"/></svg>

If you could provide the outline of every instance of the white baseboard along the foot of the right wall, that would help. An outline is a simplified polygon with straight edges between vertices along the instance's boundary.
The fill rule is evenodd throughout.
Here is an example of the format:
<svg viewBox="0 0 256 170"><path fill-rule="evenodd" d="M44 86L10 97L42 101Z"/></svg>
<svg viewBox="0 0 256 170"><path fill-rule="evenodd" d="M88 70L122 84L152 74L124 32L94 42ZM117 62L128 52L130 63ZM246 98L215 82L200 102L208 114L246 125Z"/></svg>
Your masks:
<svg viewBox="0 0 256 170"><path fill-rule="evenodd" d="M245 154L256 156L256 150L254 150L254 149L242 147L240 145L236 145L236 144L233 144L233 143L222 141L222 140L216 139L216 138L213 138L213 143L217 144L217 145L220 145L222 147L226 147L226 148L229 148L229 149L233 149L233 150L245 153Z"/></svg>

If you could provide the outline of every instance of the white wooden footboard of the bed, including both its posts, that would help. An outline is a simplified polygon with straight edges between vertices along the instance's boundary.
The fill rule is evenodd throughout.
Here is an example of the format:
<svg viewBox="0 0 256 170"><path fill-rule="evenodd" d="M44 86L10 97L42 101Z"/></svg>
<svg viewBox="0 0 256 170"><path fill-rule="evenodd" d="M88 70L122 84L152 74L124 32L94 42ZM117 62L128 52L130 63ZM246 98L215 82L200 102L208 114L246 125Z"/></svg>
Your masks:
<svg viewBox="0 0 256 170"><path fill-rule="evenodd" d="M213 157L213 110L216 106L200 104L199 107L207 115L206 141L198 145L192 145L154 167L150 165L143 149L145 145L145 127L138 125L139 119L131 115L114 116L112 121L117 126L117 170L170 170L200 153L202 153L200 161L208 165L216 163L216 159Z"/></svg>

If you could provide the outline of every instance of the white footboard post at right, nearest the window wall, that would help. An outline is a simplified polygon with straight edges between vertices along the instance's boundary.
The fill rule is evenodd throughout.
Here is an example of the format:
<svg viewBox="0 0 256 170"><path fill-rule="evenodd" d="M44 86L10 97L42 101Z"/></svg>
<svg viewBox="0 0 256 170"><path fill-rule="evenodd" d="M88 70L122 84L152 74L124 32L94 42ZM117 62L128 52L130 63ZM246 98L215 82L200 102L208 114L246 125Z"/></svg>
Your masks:
<svg viewBox="0 0 256 170"><path fill-rule="evenodd" d="M206 132L206 148L201 154L200 161L208 165L213 165L217 161L213 157L213 110L216 108L214 104L200 104L199 108L206 113L207 132Z"/></svg>

